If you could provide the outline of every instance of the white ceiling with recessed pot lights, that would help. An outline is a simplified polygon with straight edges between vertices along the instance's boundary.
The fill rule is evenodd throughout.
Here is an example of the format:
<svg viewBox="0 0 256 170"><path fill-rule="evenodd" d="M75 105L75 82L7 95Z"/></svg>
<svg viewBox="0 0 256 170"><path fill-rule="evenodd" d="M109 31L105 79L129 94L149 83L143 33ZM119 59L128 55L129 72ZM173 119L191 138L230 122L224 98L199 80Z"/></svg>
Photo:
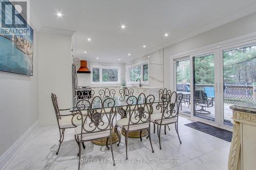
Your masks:
<svg viewBox="0 0 256 170"><path fill-rule="evenodd" d="M256 0L31 0L30 5L37 30L74 33L74 57L122 63L256 12Z"/></svg>

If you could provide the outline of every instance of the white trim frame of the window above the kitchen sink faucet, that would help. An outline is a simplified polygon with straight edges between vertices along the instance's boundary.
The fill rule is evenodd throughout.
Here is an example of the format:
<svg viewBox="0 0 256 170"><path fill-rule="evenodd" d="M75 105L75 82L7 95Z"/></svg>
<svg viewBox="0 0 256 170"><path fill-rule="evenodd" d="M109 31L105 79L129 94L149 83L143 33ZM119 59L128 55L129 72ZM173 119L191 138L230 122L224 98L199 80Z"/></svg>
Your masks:
<svg viewBox="0 0 256 170"><path fill-rule="evenodd" d="M133 65L128 65L126 66L126 84L140 84L140 82L131 82L129 81L130 80L130 71L129 69L132 68L132 67L136 67L136 66L139 66L141 65L141 71L143 72L143 65L144 64L148 64L148 70L147 70L147 73L148 73L148 80L147 81L142 81L143 80L143 74L141 74L140 76L140 80L141 80L141 84L150 84L150 61L149 60L145 60L145 61L142 61L142 62L139 62L139 63L136 63L136 64L133 64Z"/></svg>

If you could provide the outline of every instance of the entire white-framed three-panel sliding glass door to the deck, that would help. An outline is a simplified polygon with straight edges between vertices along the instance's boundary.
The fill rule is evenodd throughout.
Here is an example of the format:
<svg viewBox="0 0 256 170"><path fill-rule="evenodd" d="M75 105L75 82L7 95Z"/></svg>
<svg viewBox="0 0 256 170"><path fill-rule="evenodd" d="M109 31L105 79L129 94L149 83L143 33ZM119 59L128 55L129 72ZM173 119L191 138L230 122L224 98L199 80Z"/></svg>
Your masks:
<svg viewBox="0 0 256 170"><path fill-rule="evenodd" d="M182 114L221 128L232 128L231 105L256 101L256 40L174 60ZM190 70L190 71L189 71Z"/></svg>

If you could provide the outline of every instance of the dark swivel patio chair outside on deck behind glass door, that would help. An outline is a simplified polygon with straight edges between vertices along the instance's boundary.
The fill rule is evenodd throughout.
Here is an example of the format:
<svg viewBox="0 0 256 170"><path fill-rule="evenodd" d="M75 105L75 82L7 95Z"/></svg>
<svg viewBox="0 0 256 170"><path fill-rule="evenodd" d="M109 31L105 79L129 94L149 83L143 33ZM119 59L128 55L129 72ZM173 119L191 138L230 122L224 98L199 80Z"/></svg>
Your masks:
<svg viewBox="0 0 256 170"><path fill-rule="evenodd" d="M214 98L208 98L207 94L203 90L196 90L194 96L194 102L196 106L201 107L201 109L196 110L196 113L210 114L210 112L205 110L204 108L214 106Z"/></svg>

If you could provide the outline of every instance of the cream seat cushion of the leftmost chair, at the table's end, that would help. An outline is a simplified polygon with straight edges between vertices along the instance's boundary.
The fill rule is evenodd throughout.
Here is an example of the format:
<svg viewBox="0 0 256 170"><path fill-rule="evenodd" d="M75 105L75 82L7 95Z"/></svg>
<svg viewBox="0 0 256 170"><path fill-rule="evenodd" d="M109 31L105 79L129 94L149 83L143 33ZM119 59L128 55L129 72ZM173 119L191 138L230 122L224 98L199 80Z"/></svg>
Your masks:
<svg viewBox="0 0 256 170"><path fill-rule="evenodd" d="M77 116L61 116L61 119L59 119L59 127L60 128L75 128L76 126L81 125L82 120L77 119ZM73 125L72 124L72 117L73 117ZM79 117L78 117L79 118Z"/></svg>

